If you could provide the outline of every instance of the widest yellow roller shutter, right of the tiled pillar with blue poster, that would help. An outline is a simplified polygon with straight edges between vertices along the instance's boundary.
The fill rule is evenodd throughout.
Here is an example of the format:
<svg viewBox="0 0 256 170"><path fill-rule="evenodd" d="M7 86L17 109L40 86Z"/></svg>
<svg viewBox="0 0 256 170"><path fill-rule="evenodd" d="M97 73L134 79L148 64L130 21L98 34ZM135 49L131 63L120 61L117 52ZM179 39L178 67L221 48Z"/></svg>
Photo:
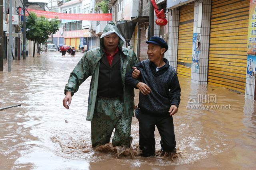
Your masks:
<svg viewBox="0 0 256 170"><path fill-rule="evenodd" d="M245 91L249 0L212 0L208 84Z"/></svg>

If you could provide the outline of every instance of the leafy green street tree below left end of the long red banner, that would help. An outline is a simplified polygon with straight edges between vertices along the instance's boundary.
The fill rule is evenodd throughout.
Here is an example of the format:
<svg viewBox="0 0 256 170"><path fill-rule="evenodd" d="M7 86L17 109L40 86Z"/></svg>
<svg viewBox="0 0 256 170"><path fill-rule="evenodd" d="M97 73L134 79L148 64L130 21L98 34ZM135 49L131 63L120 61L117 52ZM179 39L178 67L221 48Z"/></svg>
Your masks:
<svg viewBox="0 0 256 170"><path fill-rule="evenodd" d="M30 13L26 21L26 37L34 41L33 57L35 56L36 43L44 43L47 41L49 35L56 33L59 30L58 23L59 21L57 19L49 21L44 16L37 17L35 13ZM38 52L40 54L39 49Z"/></svg>

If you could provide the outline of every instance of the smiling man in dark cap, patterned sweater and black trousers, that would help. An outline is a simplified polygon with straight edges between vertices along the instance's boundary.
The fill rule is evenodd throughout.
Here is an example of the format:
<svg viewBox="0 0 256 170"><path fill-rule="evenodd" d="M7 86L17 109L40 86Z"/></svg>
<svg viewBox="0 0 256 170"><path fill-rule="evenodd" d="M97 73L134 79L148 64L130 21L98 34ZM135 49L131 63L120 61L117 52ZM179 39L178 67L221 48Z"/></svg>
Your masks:
<svg viewBox="0 0 256 170"><path fill-rule="evenodd" d="M176 151L172 115L178 111L180 104L180 84L175 69L164 58L168 44L159 37L151 37L146 43L148 60L135 65L140 70L140 78L132 78L132 69L126 74L125 83L140 90L135 115L140 124L141 155L153 156L155 126L161 136L162 151Z"/></svg>

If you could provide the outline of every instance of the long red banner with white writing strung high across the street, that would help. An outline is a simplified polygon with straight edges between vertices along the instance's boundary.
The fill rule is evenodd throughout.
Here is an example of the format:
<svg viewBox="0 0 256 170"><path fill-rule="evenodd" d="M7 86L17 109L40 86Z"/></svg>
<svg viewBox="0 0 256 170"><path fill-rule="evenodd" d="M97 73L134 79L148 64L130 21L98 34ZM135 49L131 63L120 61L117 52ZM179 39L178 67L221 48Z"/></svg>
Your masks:
<svg viewBox="0 0 256 170"><path fill-rule="evenodd" d="M34 12L37 16L44 16L45 18L58 17L58 19L64 20L112 21L112 14L66 14L32 9L27 10L28 12ZM26 12L26 16L28 16L28 12Z"/></svg>

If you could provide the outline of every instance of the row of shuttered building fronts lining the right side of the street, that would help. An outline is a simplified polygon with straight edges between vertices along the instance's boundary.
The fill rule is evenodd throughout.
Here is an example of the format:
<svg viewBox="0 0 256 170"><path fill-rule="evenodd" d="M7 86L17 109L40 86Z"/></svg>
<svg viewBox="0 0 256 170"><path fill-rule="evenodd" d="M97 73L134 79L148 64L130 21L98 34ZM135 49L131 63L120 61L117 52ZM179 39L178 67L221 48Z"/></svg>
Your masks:
<svg viewBox="0 0 256 170"><path fill-rule="evenodd" d="M116 23L122 20L137 22L130 48L144 60L147 59L145 41L151 2L139 0L138 15L133 16L128 11L134 2L110 0L110 12ZM155 24L154 35L168 42L165 57L179 76L196 84L242 92L246 98L256 96L255 78L247 75L248 62L252 61L248 61L246 53L248 27L254 25L248 20L250 0L156 0L156 4L158 9L165 10L168 25ZM128 15L130 18L126 17Z"/></svg>

